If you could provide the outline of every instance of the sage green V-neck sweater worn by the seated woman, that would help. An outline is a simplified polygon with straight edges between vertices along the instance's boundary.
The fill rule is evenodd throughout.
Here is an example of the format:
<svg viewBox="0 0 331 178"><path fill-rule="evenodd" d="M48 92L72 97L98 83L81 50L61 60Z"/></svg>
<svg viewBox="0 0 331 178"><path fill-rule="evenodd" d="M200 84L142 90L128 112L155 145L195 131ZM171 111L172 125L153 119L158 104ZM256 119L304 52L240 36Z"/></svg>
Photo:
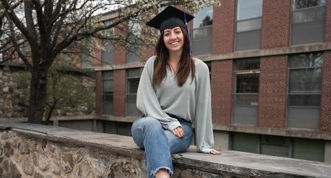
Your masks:
<svg viewBox="0 0 331 178"><path fill-rule="evenodd" d="M175 74L167 67L167 76L157 88L152 87L154 60L146 62L137 91L137 108L146 116L159 120L164 129L172 131L181 126L167 113L195 123L197 151L213 151L212 109L210 103L210 78L208 66L194 58L195 78L188 77L182 87L177 85Z"/></svg>

